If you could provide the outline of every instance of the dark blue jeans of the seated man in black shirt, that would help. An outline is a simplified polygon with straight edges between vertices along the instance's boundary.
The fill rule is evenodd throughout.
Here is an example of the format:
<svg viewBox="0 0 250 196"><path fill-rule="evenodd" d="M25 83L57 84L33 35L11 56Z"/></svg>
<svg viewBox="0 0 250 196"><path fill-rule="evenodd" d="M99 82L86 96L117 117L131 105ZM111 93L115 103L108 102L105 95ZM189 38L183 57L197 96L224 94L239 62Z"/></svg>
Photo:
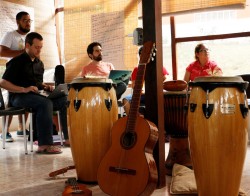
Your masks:
<svg viewBox="0 0 250 196"><path fill-rule="evenodd" d="M53 111L59 110L64 138L68 139L67 97L48 99L35 93L15 93L10 96L15 107L32 108L35 113L38 145L53 144Z"/></svg>

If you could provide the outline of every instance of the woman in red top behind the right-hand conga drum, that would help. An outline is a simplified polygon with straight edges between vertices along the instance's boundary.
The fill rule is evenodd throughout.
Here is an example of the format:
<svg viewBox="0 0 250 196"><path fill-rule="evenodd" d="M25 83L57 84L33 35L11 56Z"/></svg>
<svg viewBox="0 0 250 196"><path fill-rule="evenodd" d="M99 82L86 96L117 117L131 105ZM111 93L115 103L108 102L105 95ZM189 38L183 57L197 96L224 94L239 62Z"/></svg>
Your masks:
<svg viewBox="0 0 250 196"><path fill-rule="evenodd" d="M221 76L222 70L214 61L209 60L209 49L204 44L198 44L194 50L196 61L187 68L184 76L186 82L193 81L198 76Z"/></svg>

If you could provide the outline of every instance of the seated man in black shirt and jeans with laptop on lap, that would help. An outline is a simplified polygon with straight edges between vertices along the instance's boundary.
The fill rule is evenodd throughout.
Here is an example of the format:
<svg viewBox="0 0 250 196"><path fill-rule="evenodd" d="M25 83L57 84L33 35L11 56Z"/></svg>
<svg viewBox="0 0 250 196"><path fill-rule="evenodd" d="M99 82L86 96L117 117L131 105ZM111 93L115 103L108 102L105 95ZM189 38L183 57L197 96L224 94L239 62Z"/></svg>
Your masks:
<svg viewBox="0 0 250 196"><path fill-rule="evenodd" d="M44 65L39 59L43 47L43 38L32 32L26 36L25 52L11 59L6 66L0 86L10 92L9 103L16 107L32 108L35 112L39 153L61 153L53 146L53 110L60 111L62 131L68 141L67 98L47 99L38 94L38 90L52 91L53 87L43 83Z"/></svg>

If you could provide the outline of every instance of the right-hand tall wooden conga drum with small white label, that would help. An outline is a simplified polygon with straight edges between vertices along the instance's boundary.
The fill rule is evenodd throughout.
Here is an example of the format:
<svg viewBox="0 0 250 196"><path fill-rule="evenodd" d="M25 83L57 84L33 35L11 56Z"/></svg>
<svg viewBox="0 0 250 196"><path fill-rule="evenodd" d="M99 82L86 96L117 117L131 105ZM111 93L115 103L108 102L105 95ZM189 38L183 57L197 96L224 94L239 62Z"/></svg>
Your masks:
<svg viewBox="0 0 250 196"><path fill-rule="evenodd" d="M248 82L199 77L188 109L188 138L199 196L237 196L247 150Z"/></svg>

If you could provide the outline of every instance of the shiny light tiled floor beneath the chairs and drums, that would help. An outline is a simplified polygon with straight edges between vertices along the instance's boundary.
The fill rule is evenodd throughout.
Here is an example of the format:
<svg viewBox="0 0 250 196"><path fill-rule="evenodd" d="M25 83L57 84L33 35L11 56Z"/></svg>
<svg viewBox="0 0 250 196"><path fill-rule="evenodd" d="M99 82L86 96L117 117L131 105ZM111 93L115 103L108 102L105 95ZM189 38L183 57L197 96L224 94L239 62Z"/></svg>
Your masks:
<svg viewBox="0 0 250 196"><path fill-rule="evenodd" d="M35 152L24 154L23 138L16 137L15 142L6 143L6 149L0 149L0 195L2 196L59 196L65 187L68 177L76 177L75 170L69 170L64 175L50 178L52 171L73 165L70 148L63 148L58 155L39 155ZM0 142L2 145L2 143ZM34 146L36 150L37 146ZM168 153L168 143L166 144ZM171 177L166 176L166 186L156 189L153 196L170 195ZM250 146L248 146L241 188L250 196ZM97 185L89 187L93 195L104 194Z"/></svg>

